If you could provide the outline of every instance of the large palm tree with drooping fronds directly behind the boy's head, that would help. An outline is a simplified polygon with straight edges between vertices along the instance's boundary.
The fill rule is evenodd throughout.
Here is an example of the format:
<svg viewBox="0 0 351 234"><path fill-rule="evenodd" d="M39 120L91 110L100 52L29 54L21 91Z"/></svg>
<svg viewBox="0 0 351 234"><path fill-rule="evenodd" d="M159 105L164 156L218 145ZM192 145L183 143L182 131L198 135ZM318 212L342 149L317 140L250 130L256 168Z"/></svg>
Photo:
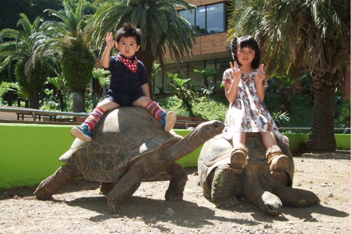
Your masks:
<svg viewBox="0 0 351 234"><path fill-rule="evenodd" d="M116 32L125 22L142 30L141 49L136 56L145 64L150 90L154 60L164 68L166 55L177 62L190 55L195 32L175 10L193 7L185 0L96 0L94 4L103 4L92 21L97 47L103 48L106 33Z"/></svg>

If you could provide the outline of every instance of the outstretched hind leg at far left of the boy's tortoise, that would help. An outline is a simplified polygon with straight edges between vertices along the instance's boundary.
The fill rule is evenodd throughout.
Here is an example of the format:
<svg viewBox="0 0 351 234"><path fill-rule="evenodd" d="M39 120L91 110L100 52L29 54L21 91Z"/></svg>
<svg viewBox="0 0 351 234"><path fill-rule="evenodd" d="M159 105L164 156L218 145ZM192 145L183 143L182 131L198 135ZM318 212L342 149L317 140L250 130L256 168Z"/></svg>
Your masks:
<svg viewBox="0 0 351 234"><path fill-rule="evenodd" d="M41 181L34 195L39 199L50 199L63 185L78 176L81 176L81 172L77 167L71 164L65 164L54 174Z"/></svg>

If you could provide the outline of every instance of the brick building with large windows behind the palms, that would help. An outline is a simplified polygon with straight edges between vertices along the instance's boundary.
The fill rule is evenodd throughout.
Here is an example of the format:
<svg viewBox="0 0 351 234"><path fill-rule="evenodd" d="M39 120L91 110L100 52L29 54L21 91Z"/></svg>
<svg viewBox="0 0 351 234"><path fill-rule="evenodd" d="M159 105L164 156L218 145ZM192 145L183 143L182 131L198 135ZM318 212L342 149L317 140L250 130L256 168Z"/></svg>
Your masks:
<svg viewBox="0 0 351 234"><path fill-rule="evenodd" d="M181 78L191 78L191 85L195 90L204 87L204 78L193 70L216 69L217 74L207 78L209 86L219 84L223 72L229 67L231 55L226 43L227 13L229 1L223 0L188 0L197 6L189 12L180 10L179 13L189 20L198 30L199 36L193 44L192 56L177 64L166 59L165 74L159 72L155 78L155 94L162 93L162 89L171 81L166 73L178 73Z"/></svg>

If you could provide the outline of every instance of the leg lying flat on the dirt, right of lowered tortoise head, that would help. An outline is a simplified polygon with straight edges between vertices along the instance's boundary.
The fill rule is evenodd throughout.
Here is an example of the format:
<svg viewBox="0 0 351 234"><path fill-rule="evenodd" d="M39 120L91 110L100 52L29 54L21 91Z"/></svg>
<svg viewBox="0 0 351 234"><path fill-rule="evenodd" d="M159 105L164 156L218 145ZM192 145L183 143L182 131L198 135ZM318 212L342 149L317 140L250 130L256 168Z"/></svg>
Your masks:
<svg viewBox="0 0 351 234"><path fill-rule="evenodd" d="M273 188L273 193L280 198L283 206L305 207L320 201L311 191L286 186L276 186Z"/></svg>

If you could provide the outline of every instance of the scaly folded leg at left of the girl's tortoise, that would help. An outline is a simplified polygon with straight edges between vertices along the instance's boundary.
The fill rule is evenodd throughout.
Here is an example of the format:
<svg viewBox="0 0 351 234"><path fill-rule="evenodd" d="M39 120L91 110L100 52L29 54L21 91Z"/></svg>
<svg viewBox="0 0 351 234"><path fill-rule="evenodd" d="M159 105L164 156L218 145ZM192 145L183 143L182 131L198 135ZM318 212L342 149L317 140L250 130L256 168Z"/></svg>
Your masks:
<svg viewBox="0 0 351 234"><path fill-rule="evenodd" d="M215 169L211 186L211 199L219 208L229 208L239 205L236 195L241 194L241 174L235 173L229 165Z"/></svg>

